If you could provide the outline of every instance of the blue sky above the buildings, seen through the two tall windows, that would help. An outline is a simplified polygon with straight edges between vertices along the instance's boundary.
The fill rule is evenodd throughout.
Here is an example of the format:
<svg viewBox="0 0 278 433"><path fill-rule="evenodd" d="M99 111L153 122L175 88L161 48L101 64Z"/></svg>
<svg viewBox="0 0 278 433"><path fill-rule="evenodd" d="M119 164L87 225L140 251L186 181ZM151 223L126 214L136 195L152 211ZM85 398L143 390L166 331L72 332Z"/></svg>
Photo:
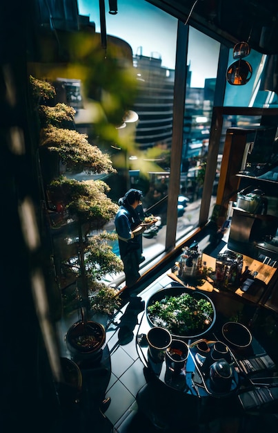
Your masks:
<svg viewBox="0 0 278 433"><path fill-rule="evenodd" d="M124 39L133 54L161 57L162 66L175 68L177 19L143 0L118 0L117 15L110 15L106 6L108 35ZM79 13L90 17L99 26L99 0L78 0ZM130 19L131 16L136 19ZM190 28L188 63L192 71L191 86L203 87L205 78L216 77L219 43Z"/></svg>

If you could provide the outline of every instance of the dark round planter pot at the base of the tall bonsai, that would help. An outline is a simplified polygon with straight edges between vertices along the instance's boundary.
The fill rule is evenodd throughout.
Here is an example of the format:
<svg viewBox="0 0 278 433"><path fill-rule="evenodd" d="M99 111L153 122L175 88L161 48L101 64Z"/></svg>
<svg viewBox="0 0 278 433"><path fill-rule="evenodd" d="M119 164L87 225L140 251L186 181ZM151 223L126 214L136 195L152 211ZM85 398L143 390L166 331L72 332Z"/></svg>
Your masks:
<svg viewBox="0 0 278 433"><path fill-rule="evenodd" d="M66 333L66 344L75 362L101 360L105 342L106 331L97 322L75 322Z"/></svg>

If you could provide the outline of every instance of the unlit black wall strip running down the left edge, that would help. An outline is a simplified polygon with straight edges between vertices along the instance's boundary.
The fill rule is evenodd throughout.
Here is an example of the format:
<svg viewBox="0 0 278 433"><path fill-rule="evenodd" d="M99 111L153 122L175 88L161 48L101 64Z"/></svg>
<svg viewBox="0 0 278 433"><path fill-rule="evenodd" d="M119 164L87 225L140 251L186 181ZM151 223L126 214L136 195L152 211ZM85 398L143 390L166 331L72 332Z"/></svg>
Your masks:
<svg viewBox="0 0 278 433"><path fill-rule="evenodd" d="M44 432L57 413L30 280L42 267L42 255L40 247L32 251L26 245L19 212L21 203L30 199L39 215L35 127L26 71L33 4L2 2L0 9L0 429Z"/></svg>

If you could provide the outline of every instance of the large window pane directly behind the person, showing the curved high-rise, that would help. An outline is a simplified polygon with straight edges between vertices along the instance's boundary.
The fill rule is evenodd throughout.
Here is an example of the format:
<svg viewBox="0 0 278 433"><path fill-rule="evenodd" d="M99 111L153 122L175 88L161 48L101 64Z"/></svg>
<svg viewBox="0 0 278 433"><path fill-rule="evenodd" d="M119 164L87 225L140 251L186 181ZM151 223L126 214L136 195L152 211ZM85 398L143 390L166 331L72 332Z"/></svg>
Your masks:
<svg viewBox="0 0 278 433"><path fill-rule="evenodd" d="M117 15L106 10L106 31L132 48L137 95L132 107L127 107L133 116L123 119L118 130L128 145L109 149L117 174L106 183L116 202L131 187L141 190L143 212L159 219L143 234L147 261L165 250L177 19L144 0L118 0L117 9ZM90 15L99 32L99 5L79 0L79 10ZM117 241L113 248L119 252Z"/></svg>

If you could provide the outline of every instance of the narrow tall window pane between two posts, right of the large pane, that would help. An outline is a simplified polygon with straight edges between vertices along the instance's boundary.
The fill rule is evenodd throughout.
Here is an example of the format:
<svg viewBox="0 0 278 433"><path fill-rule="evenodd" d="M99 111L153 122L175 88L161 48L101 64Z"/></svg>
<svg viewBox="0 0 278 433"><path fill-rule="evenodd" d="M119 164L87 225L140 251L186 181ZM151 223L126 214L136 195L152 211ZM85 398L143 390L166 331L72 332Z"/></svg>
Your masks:
<svg viewBox="0 0 278 433"><path fill-rule="evenodd" d="M218 42L190 28L177 239L199 223L219 48ZM213 194L216 187L217 177Z"/></svg>

